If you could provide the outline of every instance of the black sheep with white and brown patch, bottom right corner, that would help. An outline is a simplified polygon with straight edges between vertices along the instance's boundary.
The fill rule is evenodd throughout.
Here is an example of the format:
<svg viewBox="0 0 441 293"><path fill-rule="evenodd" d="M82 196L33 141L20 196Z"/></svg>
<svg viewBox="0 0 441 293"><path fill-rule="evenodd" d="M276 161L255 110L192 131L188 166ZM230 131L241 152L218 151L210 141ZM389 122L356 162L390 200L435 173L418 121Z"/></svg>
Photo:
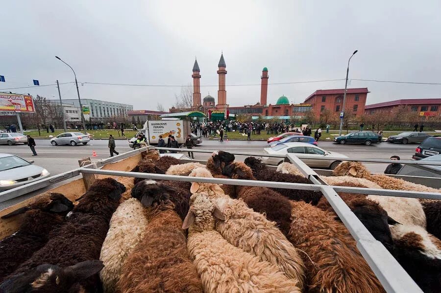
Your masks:
<svg viewBox="0 0 441 293"><path fill-rule="evenodd" d="M403 269L423 292L441 292L441 241L417 225L393 225L391 232Z"/></svg>

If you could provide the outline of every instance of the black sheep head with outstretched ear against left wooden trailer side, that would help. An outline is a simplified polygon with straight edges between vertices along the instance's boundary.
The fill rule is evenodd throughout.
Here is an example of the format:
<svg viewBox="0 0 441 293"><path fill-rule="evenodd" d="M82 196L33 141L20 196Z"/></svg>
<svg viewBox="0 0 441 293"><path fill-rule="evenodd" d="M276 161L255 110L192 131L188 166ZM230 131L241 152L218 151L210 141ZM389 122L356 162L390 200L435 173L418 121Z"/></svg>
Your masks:
<svg viewBox="0 0 441 293"><path fill-rule="evenodd" d="M2 219L10 218L15 215L23 214L28 210L40 209L48 213L57 213L66 215L73 209L73 203L61 193L50 193L49 198L38 200L35 203L21 207L7 215L2 216Z"/></svg>

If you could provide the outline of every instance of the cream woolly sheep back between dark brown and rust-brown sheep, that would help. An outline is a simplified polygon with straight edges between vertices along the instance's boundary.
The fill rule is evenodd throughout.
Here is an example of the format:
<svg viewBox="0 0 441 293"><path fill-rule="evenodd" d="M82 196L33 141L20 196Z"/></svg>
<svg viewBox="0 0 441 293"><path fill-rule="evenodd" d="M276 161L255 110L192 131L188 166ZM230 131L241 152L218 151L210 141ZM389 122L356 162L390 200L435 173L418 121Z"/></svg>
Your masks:
<svg viewBox="0 0 441 293"><path fill-rule="evenodd" d="M113 213L99 256L104 264L100 272L104 292L115 292L125 259L143 238L146 227L144 206L137 199L121 203Z"/></svg>

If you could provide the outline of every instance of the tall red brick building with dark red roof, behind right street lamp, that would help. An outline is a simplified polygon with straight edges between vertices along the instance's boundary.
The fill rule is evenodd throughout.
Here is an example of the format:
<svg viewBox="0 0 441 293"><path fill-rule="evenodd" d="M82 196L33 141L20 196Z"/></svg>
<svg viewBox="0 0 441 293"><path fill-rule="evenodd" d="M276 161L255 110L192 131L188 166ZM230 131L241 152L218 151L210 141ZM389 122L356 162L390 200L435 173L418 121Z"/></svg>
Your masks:
<svg viewBox="0 0 441 293"><path fill-rule="evenodd" d="M344 112L353 113L356 116L363 115L365 113L368 92L368 88L347 89ZM304 103L312 105L312 111L317 118L325 109L329 109L331 113L340 113L343 109L343 93L344 89L316 90L306 98Z"/></svg>

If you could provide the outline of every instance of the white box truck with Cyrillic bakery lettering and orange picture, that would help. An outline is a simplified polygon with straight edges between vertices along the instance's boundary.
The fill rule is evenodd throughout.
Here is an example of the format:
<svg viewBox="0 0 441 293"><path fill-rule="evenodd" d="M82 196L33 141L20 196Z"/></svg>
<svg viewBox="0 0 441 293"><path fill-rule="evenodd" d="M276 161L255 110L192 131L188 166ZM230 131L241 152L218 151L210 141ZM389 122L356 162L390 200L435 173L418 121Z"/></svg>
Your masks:
<svg viewBox="0 0 441 293"><path fill-rule="evenodd" d="M137 136L142 133L146 136L147 145L158 144L159 135L167 142L169 135L173 135L178 144L183 144L187 135L191 134L190 121L188 120L151 120L144 123L135 137L129 140L129 146L133 148Z"/></svg>

